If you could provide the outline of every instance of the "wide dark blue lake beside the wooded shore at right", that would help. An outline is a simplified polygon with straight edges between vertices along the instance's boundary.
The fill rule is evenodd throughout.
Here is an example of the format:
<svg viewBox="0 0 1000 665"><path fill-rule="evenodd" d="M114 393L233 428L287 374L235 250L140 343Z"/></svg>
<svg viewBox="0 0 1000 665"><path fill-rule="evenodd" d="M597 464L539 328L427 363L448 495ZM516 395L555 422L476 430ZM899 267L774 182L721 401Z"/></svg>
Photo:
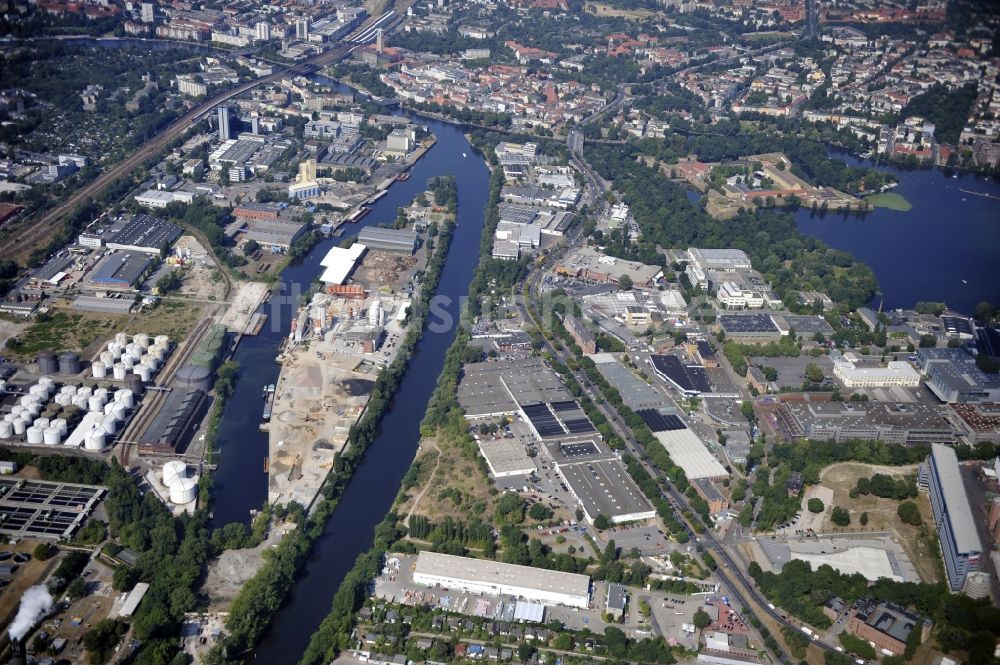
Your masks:
<svg viewBox="0 0 1000 665"><path fill-rule="evenodd" d="M871 266L886 308L927 300L971 314L983 300L1000 302L1000 200L959 191L1000 197L1000 184L940 170L883 170L899 177L892 191L911 210L819 217L803 209L795 214L799 229Z"/></svg>

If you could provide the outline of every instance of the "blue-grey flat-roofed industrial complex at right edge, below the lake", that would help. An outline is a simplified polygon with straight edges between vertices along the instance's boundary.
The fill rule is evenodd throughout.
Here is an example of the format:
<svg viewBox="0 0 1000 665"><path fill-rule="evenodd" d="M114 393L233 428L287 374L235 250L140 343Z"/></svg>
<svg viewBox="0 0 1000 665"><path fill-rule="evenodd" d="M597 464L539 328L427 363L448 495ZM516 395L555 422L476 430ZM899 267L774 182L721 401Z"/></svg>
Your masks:
<svg viewBox="0 0 1000 665"><path fill-rule="evenodd" d="M1000 402L1000 379L976 366L965 349L918 348L917 365L942 402Z"/></svg>

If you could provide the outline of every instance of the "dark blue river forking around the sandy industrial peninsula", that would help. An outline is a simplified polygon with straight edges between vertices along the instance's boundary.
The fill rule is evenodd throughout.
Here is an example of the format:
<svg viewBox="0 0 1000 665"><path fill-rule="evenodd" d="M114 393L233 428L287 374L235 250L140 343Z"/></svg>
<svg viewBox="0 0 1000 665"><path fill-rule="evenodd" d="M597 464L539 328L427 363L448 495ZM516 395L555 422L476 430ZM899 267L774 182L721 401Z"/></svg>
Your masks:
<svg viewBox="0 0 1000 665"><path fill-rule="evenodd" d="M448 298L443 309L452 321L457 321L460 301L468 293L479 261L489 171L460 128L426 118L417 120L429 127L437 144L411 169L410 180L395 183L361 224L346 227L345 235L364 225L392 222L396 209L424 191L428 178L454 175L458 186L458 218L438 295ZM217 525L246 522L250 509L262 506L267 498L263 467L267 435L258 430L264 405L262 391L277 381L279 368L274 357L281 339L288 334L298 295L318 277L319 261L339 242L340 239L333 238L324 240L301 264L285 269L280 292L276 290L271 302L262 308L270 317L268 325L260 335L243 338L236 351L240 379L219 426L220 457L213 491ZM431 323L441 318L432 313ZM313 557L292 595L258 646L255 662L296 662L329 611L333 595L354 559L371 546L375 526L391 507L403 475L413 461L420 421L455 332L454 325L432 325L425 329L378 436L317 541Z"/></svg>

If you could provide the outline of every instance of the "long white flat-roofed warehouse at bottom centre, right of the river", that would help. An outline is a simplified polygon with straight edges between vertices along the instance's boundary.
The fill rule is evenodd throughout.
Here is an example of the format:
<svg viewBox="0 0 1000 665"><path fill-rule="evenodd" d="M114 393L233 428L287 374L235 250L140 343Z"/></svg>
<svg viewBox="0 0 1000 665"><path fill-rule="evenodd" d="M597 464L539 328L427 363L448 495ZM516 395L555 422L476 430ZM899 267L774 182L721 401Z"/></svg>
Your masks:
<svg viewBox="0 0 1000 665"><path fill-rule="evenodd" d="M590 603L587 575L437 552L420 553L413 581L429 587L513 596L549 605L586 608Z"/></svg>

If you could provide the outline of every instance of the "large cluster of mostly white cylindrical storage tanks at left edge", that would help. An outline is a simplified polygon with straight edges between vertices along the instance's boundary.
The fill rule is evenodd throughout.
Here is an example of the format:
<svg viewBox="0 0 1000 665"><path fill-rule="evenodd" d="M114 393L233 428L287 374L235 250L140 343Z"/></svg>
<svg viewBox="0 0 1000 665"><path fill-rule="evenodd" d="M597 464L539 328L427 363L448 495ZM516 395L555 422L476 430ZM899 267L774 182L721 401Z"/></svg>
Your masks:
<svg viewBox="0 0 1000 665"><path fill-rule="evenodd" d="M78 354L40 353L36 365L48 371L34 383L15 388L10 382L0 382L0 393L18 395L10 412L0 419L0 441L63 445L95 453L107 450L170 351L166 335L118 333L84 375L87 383L96 385L78 383L76 377L84 369Z"/></svg>

